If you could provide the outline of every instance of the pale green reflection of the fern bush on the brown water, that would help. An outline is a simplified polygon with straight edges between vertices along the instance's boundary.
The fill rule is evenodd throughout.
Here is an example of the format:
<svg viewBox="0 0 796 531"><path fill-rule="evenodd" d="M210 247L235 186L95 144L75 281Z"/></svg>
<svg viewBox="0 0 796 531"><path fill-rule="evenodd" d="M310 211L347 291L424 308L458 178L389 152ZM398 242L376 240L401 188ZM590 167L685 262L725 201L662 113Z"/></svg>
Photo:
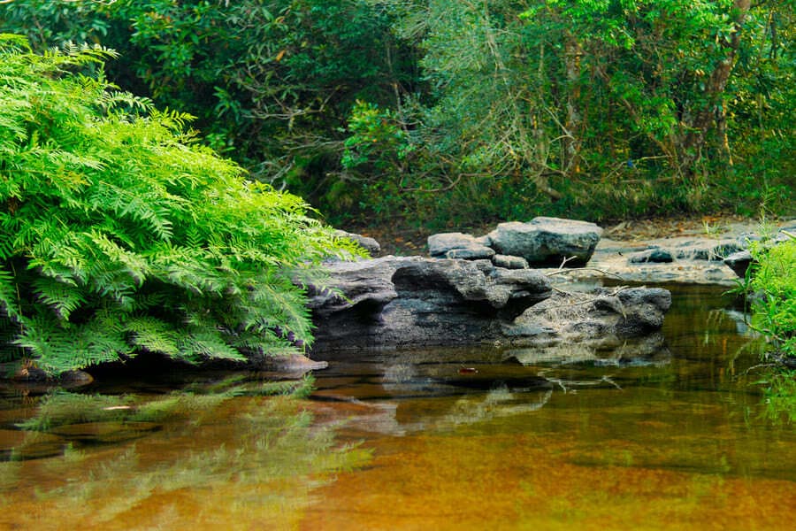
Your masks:
<svg viewBox="0 0 796 531"><path fill-rule="evenodd" d="M40 414L59 419L61 428L74 412L80 412L72 417L76 425L90 424L88 403L96 398L100 416L118 415L103 425L123 429L157 419L162 431L121 446L67 446L57 458L0 463L6 509L0 527L47 527L49 521L64 528L290 527L310 504L312 489L337 471L363 465L369 452L339 447L331 429L313 426L301 401L252 391L229 386L216 395L128 397L110 410L118 406L107 405L106 396L60 393L45 400ZM25 425L41 427L39 420Z"/></svg>

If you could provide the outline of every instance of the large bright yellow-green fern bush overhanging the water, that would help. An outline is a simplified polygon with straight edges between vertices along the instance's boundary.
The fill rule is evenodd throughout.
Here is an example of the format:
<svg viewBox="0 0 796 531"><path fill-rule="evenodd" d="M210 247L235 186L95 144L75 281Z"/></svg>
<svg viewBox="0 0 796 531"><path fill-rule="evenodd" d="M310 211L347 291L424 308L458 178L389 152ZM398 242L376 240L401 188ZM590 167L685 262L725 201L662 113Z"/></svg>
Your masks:
<svg viewBox="0 0 796 531"><path fill-rule="evenodd" d="M195 142L189 115L109 85L114 55L0 40L2 341L52 373L311 341L301 286L344 244Z"/></svg>

